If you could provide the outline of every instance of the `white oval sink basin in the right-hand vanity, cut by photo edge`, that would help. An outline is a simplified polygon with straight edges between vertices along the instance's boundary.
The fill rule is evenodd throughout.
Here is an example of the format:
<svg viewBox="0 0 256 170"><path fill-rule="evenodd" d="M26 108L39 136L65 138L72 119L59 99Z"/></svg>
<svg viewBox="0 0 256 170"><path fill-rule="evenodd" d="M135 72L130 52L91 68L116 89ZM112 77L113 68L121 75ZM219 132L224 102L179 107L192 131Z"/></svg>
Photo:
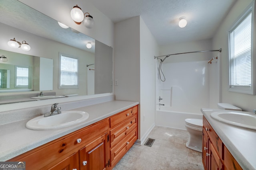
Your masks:
<svg viewBox="0 0 256 170"><path fill-rule="evenodd" d="M256 130L256 115L232 111L216 111L211 117L223 123Z"/></svg>

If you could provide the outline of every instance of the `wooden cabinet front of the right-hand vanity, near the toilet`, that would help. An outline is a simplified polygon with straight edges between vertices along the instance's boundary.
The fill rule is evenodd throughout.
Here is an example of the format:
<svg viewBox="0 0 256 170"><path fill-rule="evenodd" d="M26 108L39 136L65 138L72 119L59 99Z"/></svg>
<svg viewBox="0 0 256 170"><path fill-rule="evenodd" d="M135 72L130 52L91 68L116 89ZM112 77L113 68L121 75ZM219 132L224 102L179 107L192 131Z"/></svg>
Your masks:
<svg viewBox="0 0 256 170"><path fill-rule="evenodd" d="M202 162L205 170L242 170L205 117L202 145Z"/></svg>

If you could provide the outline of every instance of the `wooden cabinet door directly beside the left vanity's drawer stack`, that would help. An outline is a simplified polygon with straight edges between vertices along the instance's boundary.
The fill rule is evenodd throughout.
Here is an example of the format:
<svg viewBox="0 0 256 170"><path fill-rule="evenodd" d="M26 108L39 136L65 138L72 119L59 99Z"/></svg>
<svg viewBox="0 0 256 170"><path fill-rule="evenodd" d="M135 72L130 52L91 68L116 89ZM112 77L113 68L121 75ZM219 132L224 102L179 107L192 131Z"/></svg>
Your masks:
<svg viewBox="0 0 256 170"><path fill-rule="evenodd" d="M98 137L79 150L80 170L107 170L109 167L109 135Z"/></svg>

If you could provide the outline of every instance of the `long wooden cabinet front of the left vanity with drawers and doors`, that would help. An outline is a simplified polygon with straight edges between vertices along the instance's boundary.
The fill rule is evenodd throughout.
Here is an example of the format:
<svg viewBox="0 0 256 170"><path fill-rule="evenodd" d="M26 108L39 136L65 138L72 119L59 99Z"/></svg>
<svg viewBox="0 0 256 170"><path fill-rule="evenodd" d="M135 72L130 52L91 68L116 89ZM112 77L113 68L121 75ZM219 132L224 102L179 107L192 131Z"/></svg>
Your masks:
<svg viewBox="0 0 256 170"><path fill-rule="evenodd" d="M26 162L27 170L110 170L137 139L134 106L8 161Z"/></svg>

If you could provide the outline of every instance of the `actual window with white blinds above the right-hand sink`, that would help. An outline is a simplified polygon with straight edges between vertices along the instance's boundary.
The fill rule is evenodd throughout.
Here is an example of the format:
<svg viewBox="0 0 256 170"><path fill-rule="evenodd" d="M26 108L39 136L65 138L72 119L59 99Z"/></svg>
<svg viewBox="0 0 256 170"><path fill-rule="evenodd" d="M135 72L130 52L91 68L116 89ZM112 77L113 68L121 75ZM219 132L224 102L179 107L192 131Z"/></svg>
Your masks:
<svg viewBox="0 0 256 170"><path fill-rule="evenodd" d="M252 5L229 31L229 91L254 94Z"/></svg>

